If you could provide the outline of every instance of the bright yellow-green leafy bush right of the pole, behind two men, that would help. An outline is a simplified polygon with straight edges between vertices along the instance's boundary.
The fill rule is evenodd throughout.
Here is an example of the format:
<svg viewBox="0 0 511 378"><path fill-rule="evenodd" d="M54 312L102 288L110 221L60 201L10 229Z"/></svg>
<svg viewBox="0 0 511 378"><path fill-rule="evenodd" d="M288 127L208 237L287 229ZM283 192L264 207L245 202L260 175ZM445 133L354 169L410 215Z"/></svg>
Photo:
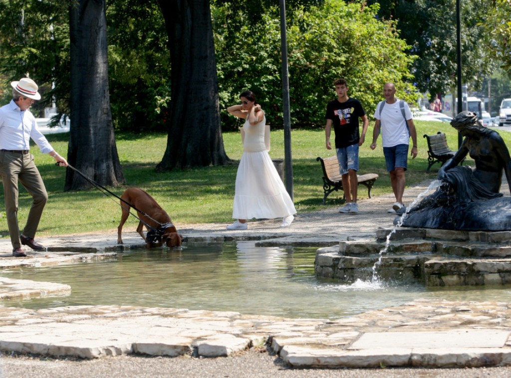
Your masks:
<svg viewBox="0 0 511 378"><path fill-rule="evenodd" d="M333 81L344 77L349 96L369 116L382 100L383 85L396 83L398 96L415 100L406 80L413 57L404 51L393 22L378 21L378 6L331 0L310 12L295 12L289 27L290 93L301 122L324 124L326 104L336 94ZM298 119L298 116L296 116Z"/></svg>

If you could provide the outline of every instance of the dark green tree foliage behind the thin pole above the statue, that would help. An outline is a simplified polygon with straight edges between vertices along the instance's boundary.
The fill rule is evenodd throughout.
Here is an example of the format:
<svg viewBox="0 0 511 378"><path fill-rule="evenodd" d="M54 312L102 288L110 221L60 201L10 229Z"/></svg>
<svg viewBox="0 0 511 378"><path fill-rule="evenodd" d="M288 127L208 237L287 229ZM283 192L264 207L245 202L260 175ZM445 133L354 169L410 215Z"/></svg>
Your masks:
<svg viewBox="0 0 511 378"><path fill-rule="evenodd" d="M456 87L456 0L368 0L379 3L379 17L398 22L400 35L417 56L412 73L421 92L449 92ZM461 1L463 83L480 88L493 68L484 43L488 0Z"/></svg>

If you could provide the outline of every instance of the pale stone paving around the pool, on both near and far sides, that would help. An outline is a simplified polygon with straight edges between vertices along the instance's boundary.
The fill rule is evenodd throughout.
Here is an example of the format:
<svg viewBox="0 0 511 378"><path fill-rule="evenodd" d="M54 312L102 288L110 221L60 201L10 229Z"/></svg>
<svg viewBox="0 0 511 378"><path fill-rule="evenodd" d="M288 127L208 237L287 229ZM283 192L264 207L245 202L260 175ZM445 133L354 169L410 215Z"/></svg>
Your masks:
<svg viewBox="0 0 511 378"><path fill-rule="evenodd" d="M410 203L427 183L405 191ZM508 193L508 189L502 189ZM360 213L337 209L296 217L290 228L280 220L250 222L246 231L227 224L179 227L194 241L256 240L259 245L307 245L339 248L339 242L374 239L379 227L391 227L386 209L392 196L359 202ZM116 244L114 230L103 234L45 238L43 252L25 258L10 255L0 241L0 267L51 266L115 258L144 248L128 230ZM313 264L313 262L311 262ZM62 295L65 285L0 278L3 298ZM228 356L267 343L296 367L477 367L511 365L511 304L415 300L349 318L286 319L235 312L134 306L68 306L42 310L0 306L0 349L57 357L100 358L126 353L156 356Z"/></svg>

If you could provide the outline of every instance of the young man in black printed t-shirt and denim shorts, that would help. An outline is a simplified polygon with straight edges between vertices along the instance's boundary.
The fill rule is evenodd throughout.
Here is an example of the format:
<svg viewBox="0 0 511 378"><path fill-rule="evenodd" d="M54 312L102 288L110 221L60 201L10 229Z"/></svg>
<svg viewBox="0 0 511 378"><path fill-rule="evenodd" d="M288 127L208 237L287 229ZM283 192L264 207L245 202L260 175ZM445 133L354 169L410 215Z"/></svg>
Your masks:
<svg viewBox="0 0 511 378"><path fill-rule="evenodd" d="M327 105L327 126L324 132L327 137L327 149L332 149L330 133L332 125L335 132L335 148L339 161L339 173L342 175L342 187L346 205L339 212L358 212L358 148L365 140L369 121L360 101L347 96L348 86L344 79L334 81L337 99ZM358 119L362 119L362 134L359 134Z"/></svg>

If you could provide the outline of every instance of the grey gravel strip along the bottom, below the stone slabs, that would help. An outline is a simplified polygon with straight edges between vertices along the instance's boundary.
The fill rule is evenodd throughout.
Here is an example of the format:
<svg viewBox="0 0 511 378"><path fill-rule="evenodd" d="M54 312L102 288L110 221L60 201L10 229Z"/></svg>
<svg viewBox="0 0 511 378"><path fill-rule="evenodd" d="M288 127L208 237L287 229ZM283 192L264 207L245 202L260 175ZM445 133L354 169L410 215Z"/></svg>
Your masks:
<svg viewBox="0 0 511 378"><path fill-rule="evenodd" d="M237 356L215 359L190 357L111 357L98 360L45 360L28 356L0 358L2 377L411 377L508 378L511 367L460 369L293 369L266 350L251 349Z"/></svg>

